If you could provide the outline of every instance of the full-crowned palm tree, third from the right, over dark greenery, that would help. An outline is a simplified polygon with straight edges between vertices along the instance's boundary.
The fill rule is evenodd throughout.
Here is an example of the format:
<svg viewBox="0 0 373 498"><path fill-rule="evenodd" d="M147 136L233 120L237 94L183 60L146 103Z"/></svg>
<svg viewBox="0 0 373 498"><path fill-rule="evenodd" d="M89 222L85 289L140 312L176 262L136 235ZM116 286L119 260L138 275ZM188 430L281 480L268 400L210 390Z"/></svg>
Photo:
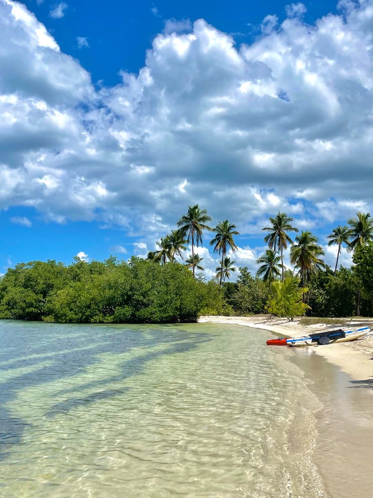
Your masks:
<svg viewBox="0 0 373 498"><path fill-rule="evenodd" d="M309 230L302 230L301 234L295 237L294 244L290 249L290 262L300 270L302 287L305 286L306 275L309 278L311 272L325 266L324 261L319 257L323 254L324 250L318 244L317 237L312 235Z"/></svg>

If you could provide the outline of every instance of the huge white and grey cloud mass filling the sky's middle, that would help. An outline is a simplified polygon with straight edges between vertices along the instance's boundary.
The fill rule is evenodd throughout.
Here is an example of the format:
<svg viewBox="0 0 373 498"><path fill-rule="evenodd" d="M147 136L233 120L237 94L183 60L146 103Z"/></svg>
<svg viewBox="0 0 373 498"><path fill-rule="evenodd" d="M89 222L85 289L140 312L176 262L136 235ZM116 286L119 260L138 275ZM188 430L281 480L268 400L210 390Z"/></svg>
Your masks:
<svg viewBox="0 0 373 498"><path fill-rule="evenodd" d="M278 210L316 227L371 210L373 2L313 25L302 5L241 47L203 19L170 24L138 74L97 91L0 0L0 208L95 220L146 249L193 203L246 235Z"/></svg>

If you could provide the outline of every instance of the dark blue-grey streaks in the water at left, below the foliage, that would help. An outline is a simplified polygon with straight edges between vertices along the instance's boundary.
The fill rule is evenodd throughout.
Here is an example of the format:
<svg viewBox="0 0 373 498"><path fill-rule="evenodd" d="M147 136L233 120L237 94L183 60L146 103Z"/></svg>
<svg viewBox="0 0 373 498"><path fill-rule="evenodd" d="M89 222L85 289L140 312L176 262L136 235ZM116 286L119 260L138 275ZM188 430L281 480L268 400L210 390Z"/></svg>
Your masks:
<svg viewBox="0 0 373 498"><path fill-rule="evenodd" d="M143 371L147 361L157 358L161 355L169 355L178 352L187 352L197 348L200 344L212 340L213 334L200 332L198 334L191 333L188 330L183 330L182 327L177 327L175 333L174 326L161 326L161 330L153 330L152 327L146 325L132 327L131 325L120 327L123 334L118 334L118 331L113 334L113 329L118 330L119 327L97 326L85 328L85 333L82 334L83 327L68 326L64 327L64 333L48 337L45 344L33 344L32 350L29 350L30 340L26 334L22 334L22 329L18 332L21 340L17 341L17 347L9 348L8 355L4 358L14 359L11 365L3 366L2 370L13 370L19 367L35 366L43 361L43 358L18 358L25 354L25 351L31 354L45 353L53 351L55 354L48 358L53 360L53 364L38 368L35 371L20 374L12 378L7 383L1 386L2 395L0 400L0 461L7 458L9 455L9 446L21 443L23 431L27 427L31 427L32 423L22 419L17 419L10 413L7 404L10 400L17 397L20 389L31 386L42 385L45 382L60 381L62 386L65 379L71 378L82 372L82 369L97 363L97 355L102 353L121 354L129 352L133 348L152 348L154 346L168 345L169 348L161 351L148 351L142 357L136 357L123 363L121 372L117 375L112 375L106 379L92 381L81 384L76 388L60 389L53 395L63 393L71 393L72 397L63 402L56 403L46 413L47 417L54 417L57 414L68 413L74 407L79 405L89 405L99 400L106 400L125 392L128 388L120 390L104 389L95 393L82 396L79 391L84 388L102 388L111 382L121 381ZM47 328L47 327L46 327ZM67 328L67 330L66 330ZM75 336L71 331L77 331ZM121 330L121 331L122 331ZM27 330L26 330L27 331ZM53 332L57 333L58 328L53 327ZM66 334L66 335L65 335ZM25 337L23 337L25 336ZM31 337L32 340L32 337ZM92 340L103 341L89 349L80 351L68 349L79 348ZM13 354L16 349L17 353ZM66 351L67 349L67 351ZM10 354L9 354L10 353ZM77 392L78 391L78 392ZM74 394L73 394L74 393Z"/></svg>

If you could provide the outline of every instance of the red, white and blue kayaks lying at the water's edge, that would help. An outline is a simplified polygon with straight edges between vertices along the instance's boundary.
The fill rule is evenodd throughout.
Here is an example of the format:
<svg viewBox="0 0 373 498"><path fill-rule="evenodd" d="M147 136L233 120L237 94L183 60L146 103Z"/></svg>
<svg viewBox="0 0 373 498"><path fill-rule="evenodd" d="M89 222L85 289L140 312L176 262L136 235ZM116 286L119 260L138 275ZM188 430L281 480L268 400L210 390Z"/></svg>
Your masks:
<svg viewBox="0 0 373 498"><path fill-rule="evenodd" d="M269 339L268 346L310 346L326 345L334 342L355 341L366 336L370 332L370 327L353 328L352 330L329 330L328 332L318 332L303 337L279 337L278 339Z"/></svg>

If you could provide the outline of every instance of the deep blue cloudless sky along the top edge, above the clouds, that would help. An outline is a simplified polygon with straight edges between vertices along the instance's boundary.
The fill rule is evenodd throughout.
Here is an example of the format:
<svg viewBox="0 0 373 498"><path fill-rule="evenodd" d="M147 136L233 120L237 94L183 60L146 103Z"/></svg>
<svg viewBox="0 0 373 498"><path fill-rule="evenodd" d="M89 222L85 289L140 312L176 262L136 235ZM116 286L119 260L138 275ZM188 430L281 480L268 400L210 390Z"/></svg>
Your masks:
<svg viewBox="0 0 373 498"><path fill-rule="evenodd" d="M120 82L120 70L137 73L144 65L145 52L160 33L167 19L203 18L217 29L234 34L238 44L252 41L260 34L258 27L268 14L280 20L286 17L287 2L226 2L209 0L191 2L123 2L109 3L88 0L65 2L63 18L53 19L50 11L59 2L37 5L36 0L25 2L36 14L61 50L77 57L92 75L93 82L103 80L105 85ZM337 12L337 4L330 2L304 2L305 20L314 22L329 12ZM87 37L91 50L80 50L76 37Z"/></svg>

